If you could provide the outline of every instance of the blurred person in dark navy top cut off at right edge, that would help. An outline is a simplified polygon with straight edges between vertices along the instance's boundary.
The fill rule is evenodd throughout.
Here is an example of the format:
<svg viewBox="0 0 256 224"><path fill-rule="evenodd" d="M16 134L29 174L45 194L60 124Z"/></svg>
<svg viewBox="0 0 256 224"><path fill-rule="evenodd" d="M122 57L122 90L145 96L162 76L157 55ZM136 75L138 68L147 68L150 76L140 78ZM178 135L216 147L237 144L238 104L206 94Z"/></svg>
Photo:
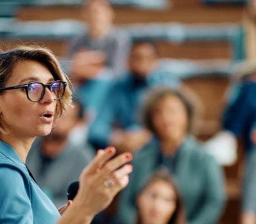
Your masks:
<svg viewBox="0 0 256 224"><path fill-rule="evenodd" d="M240 65L237 85L224 113L223 129L244 139L246 152L252 150L250 133L256 121L256 60Z"/></svg>

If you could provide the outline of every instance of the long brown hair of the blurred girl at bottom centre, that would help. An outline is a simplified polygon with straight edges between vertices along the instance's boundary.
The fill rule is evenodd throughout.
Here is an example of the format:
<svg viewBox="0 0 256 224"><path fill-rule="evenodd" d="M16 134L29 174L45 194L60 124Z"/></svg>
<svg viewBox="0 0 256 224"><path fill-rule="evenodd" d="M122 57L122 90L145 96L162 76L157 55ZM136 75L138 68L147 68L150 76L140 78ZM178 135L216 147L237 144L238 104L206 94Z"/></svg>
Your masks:
<svg viewBox="0 0 256 224"><path fill-rule="evenodd" d="M149 179L145 182L144 186L140 189L139 195L152 183L154 183L157 180L162 180L172 186L174 189L175 195L176 195L176 208L174 210L174 213L172 214L172 217L168 221L168 224L174 223L174 224L184 224L186 223L185 220L185 210L184 205L182 202L182 197L180 195L179 189L177 188L177 185L174 182L174 179L172 179L172 176L168 172L167 169L159 169L157 170L153 175L149 177ZM137 195L138 196L138 195ZM136 205L137 206L137 205ZM137 218L137 224L141 224L142 220L140 217L140 214L138 213Z"/></svg>

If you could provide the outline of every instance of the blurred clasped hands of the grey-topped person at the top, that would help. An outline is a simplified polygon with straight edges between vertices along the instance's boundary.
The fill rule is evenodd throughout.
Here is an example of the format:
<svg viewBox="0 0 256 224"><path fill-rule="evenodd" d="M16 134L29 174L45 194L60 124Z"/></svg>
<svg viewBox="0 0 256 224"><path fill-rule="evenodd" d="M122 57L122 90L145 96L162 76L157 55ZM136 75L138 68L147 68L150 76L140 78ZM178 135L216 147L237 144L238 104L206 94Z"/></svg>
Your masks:
<svg viewBox="0 0 256 224"><path fill-rule="evenodd" d="M70 75L74 82L90 80L104 69L106 54L96 50L81 50L72 57Z"/></svg>

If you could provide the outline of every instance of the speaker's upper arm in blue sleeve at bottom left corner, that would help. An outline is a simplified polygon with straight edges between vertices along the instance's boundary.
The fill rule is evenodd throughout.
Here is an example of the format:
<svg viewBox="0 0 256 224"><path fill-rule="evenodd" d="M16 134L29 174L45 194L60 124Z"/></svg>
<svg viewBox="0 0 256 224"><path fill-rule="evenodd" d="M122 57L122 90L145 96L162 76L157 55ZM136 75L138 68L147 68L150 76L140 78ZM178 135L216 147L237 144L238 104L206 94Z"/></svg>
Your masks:
<svg viewBox="0 0 256 224"><path fill-rule="evenodd" d="M11 167L0 169L0 223L33 223L29 191L26 179Z"/></svg>

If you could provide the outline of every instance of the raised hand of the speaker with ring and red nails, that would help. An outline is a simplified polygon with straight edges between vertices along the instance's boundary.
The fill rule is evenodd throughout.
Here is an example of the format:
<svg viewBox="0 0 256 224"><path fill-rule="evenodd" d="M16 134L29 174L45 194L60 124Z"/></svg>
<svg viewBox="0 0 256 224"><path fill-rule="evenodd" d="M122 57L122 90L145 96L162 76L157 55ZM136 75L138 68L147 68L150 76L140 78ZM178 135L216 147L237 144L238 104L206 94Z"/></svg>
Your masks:
<svg viewBox="0 0 256 224"><path fill-rule="evenodd" d="M79 190L74 203L79 202L85 207L89 217L104 210L129 182L128 174L132 172L132 166L127 162L132 160L132 154L124 153L111 159L115 153L114 147L100 149L79 177Z"/></svg>

